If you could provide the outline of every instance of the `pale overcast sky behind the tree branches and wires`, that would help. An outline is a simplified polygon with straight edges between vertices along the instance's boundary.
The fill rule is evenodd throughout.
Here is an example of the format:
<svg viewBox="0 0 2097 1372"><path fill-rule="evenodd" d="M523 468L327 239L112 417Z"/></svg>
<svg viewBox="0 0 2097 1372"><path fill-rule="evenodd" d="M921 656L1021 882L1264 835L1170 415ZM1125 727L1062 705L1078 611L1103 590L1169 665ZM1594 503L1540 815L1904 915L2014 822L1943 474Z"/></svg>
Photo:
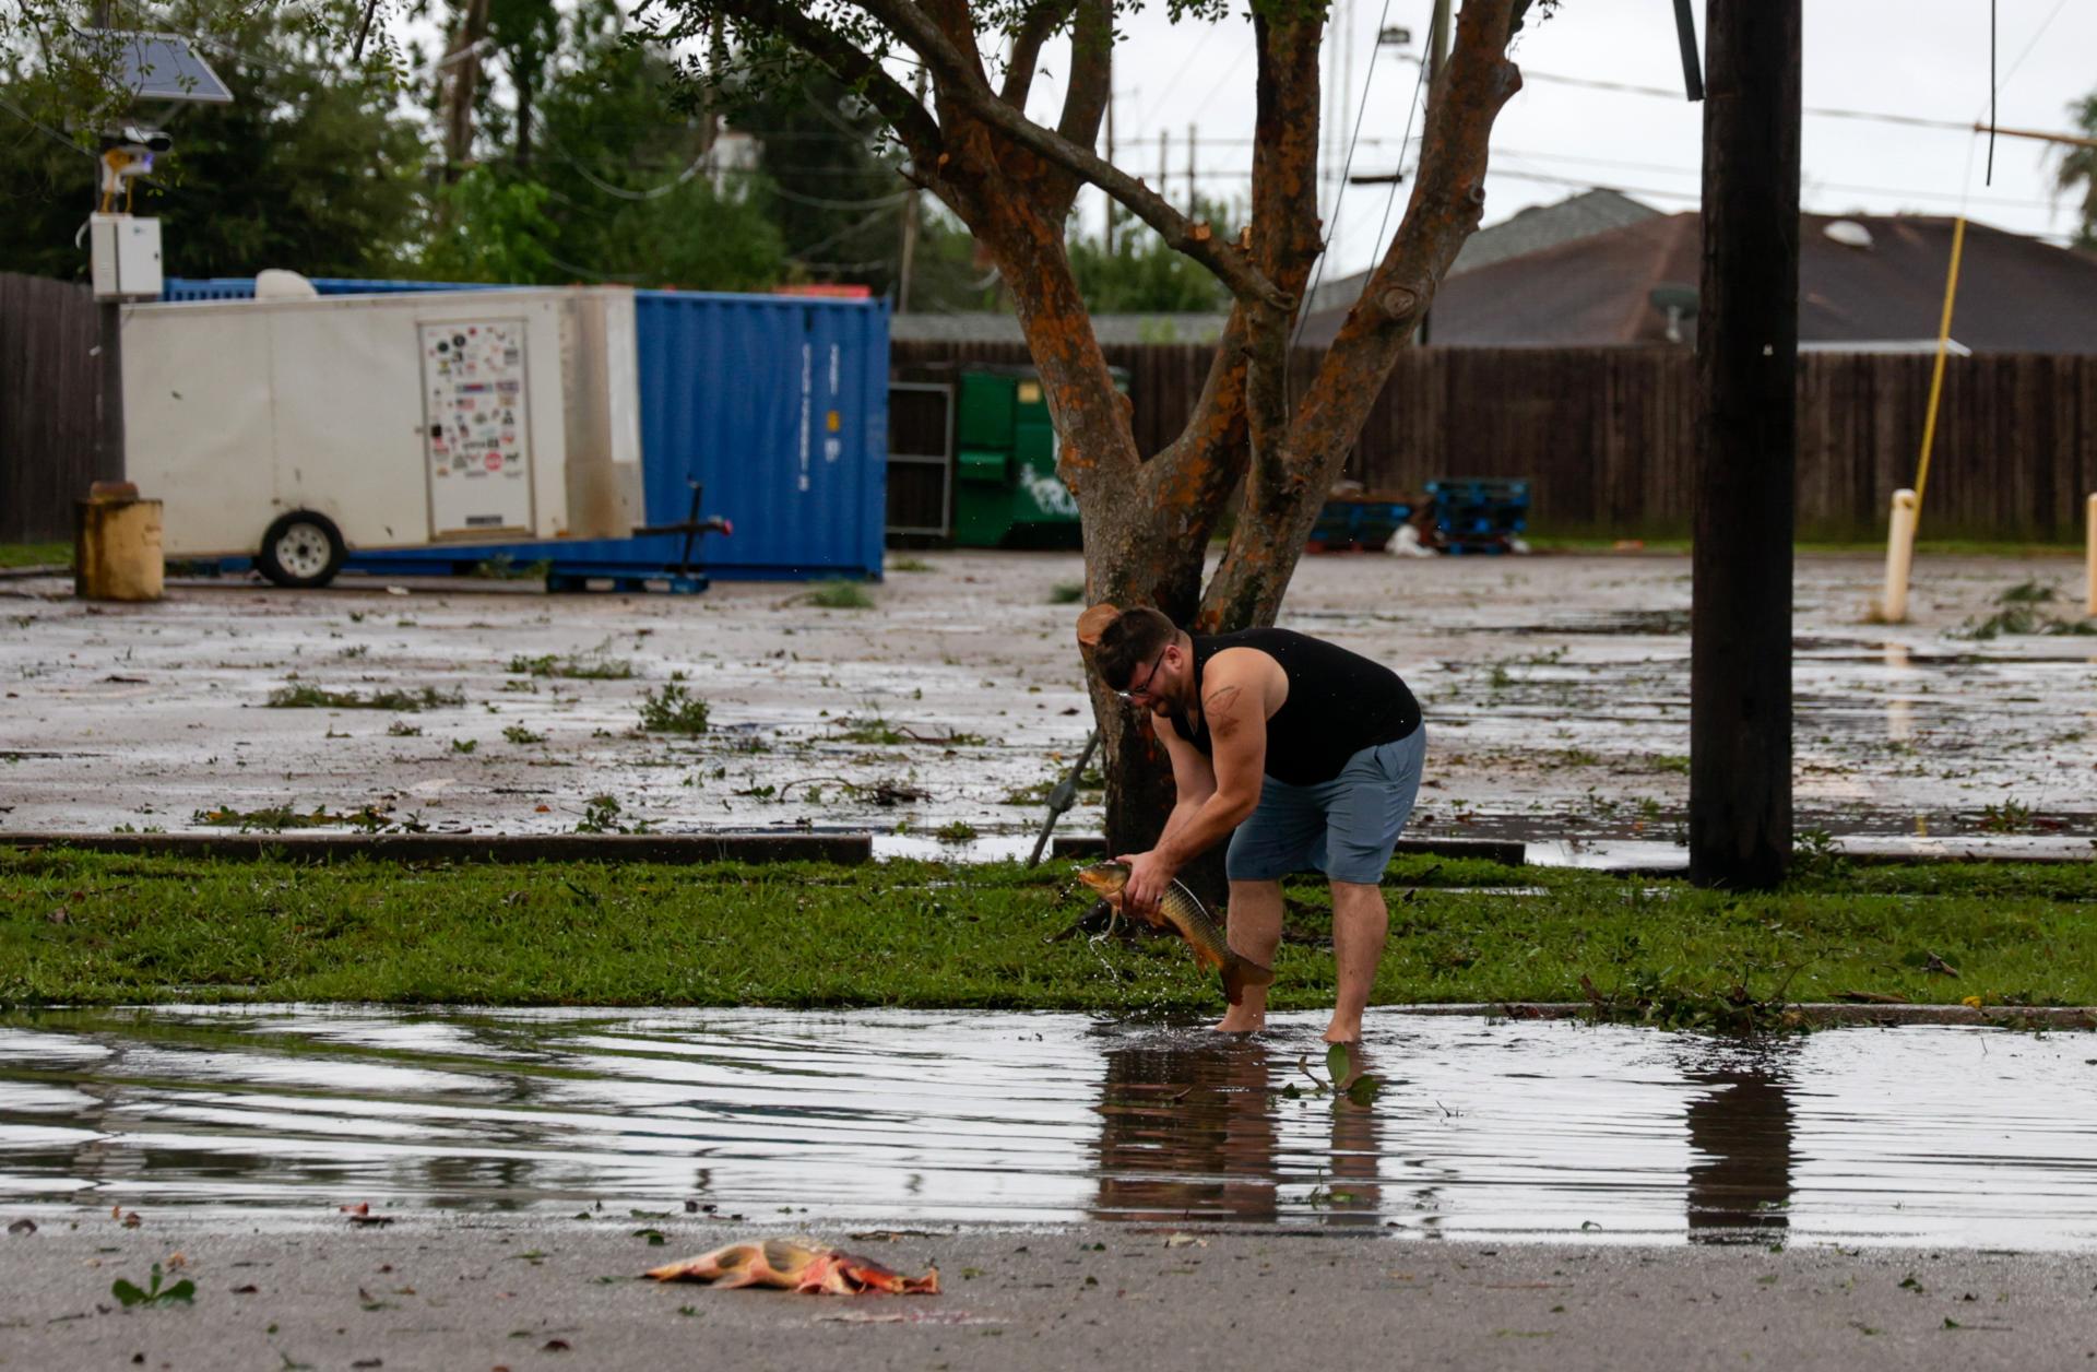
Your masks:
<svg viewBox="0 0 2097 1372"><path fill-rule="evenodd" d="M1353 172L1388 172L1407 130L1432 0L1336 0L1327 86L1344 84L1346 122L1359 111ZM1457 0L1462 4L1462 0ZM1988 0L1803 0L1803 206L1810 212L1919 212L1967 216L2063 241L2074 199L2053 189L2059 151L2028 138L1996 138L1992 185L1986 136L1971 124L1988 111ZM1703 0L1696 13L1703 48ZM2072 132L2068 105L2097 90L2097 0L1996 0L1998 113L2003 128ZM1376 55L1380 27L1407 27L1407 48ZM1252 168L1252 25L1172 25L1162 6L1124 21L1116 73L1116 159L1158 185L1160 132L1172 197L1187 193L1187 134L1195 128L1195 176L1204 195L1246 197ZM1346 36L1353 36L1348 61ZM1055 57L1061 57L1055 55ZM1055 73L1055 57L1042 65ZM1516 40L1525 88L1493 130L1485 222L1552 203L1587 187L1615 187L1676 212L1696 208L1703 107L1682 99L1682 57L1671 0L1564 0ZM1353 80L1346 78L1350 71ZM1566 84L1617 82L1671 94ZM1053 122L1061 90L1036 84L1030 113ZM1959 128L1816 115L1847 109ZM1418 143L1418 117L1411 136ZM1327 141L1334 128L1327 124ZM1342 164L1344 143L1332 164ZM1332 206L1332 183L1321 203ZM1350 185L1340 195L1329 275L1376 256L1390 187ZM1099 199L1090 222L1103 214ZM1327 218L1332 214L1327 212ZM1388 241L1388 227L1382 229Z"/></svg>

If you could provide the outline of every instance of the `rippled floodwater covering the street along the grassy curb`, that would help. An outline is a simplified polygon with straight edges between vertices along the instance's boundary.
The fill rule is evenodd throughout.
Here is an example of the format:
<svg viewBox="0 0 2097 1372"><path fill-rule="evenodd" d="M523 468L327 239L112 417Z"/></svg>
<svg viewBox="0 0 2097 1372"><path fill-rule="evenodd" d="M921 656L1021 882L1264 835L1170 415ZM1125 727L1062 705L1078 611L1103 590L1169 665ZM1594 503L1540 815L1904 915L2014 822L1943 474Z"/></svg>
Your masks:
<svg viewBox="0 0 2097 1372"><path fill-rule="evenodd" d="M1378 1013L1363 1066L1384 1089L1359 1108L1317 1091L1317 1028L19 1011L0 1017L0 1206L2097 1248L2082 1034L1749 1043Z"/></svg>

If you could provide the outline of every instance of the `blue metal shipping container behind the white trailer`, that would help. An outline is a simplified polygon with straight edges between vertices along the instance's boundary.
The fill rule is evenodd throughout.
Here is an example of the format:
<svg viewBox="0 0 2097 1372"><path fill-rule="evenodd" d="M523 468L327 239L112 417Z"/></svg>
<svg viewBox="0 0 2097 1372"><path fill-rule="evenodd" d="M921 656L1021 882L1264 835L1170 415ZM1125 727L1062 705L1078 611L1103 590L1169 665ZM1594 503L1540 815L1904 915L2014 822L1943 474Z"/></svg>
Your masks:
<svg viewBox="0 0 2097 1372"><path fill-rule="evenodd" d="M447 290L317 279L321 294ZM455 290L455 287L453 287ZM239 300L239 277L170 279L168 300ZM642 485L650 524L692 512L696 566L719 579L881 577L887 506L889 310L881 300L635 292ZM564 577L648 577L679 562L682 535L359 552L369 571L453 571L487 558L552 562Z"/></svg>

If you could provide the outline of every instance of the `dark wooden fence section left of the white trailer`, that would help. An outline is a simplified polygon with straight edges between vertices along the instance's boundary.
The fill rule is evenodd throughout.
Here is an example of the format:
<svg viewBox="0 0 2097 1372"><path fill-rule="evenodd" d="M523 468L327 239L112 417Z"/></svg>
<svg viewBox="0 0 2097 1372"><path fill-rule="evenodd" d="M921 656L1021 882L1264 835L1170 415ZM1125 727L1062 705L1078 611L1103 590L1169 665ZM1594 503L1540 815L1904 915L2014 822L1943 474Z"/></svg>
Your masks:
<svg viewBox="0 0 2097 1372"><path fill-rule="evenodd" d="M94 300L0 273L0 543L73 537L94 480Z"/></svg>

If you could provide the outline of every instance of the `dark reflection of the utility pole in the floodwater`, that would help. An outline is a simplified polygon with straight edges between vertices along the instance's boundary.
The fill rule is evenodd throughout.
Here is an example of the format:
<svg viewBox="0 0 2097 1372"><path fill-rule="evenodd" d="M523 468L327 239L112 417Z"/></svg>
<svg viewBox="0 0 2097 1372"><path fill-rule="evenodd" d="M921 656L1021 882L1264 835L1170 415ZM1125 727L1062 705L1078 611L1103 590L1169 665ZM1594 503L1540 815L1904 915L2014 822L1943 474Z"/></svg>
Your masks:
<svg viewBox="0 0 2097 1372"><path fill-rule="evenodd" d="M1684 1080L1703 1087L1686 1108L1692 1244L1772 1242L1791 1227L1789 1049L1701 1045L1701 1062L1684 1066Z"/></svg>

